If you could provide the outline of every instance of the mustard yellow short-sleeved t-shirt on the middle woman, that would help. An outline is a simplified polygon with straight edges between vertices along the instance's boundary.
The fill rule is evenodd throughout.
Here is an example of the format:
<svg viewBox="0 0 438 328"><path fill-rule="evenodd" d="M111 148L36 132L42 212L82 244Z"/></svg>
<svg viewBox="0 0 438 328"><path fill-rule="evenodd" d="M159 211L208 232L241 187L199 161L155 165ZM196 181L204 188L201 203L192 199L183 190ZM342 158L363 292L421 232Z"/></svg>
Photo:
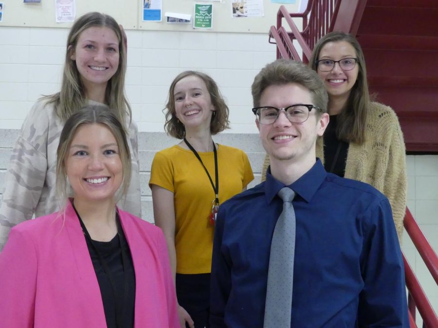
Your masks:
<svg viewBox="0 0 438 328"><path fill-rule="evenodd" d="M199 155L216 184L214 153ZM218 146L218 171L219 203L241 192L254 179L247 155L233 147ZM215 192L200 161L191 150L178 145L166 148L152 162L152 184L174 193L176 272L210 273L214 226L209 216Z"/></svg>

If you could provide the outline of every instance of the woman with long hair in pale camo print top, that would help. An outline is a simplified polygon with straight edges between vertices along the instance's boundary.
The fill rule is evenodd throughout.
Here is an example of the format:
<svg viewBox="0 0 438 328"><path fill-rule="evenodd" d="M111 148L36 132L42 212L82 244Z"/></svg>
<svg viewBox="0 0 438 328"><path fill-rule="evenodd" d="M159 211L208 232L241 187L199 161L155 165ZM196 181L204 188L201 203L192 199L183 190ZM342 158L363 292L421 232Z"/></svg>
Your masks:
<svg viewBox="0 0 438 328"><path fill-rule="evenodd" d="M87 104L105 104L126 122L132 176L119 206L141 217L137 127L125 96L126 45L114 18L88 13L69 33L61 90L40 98L12 151L0 209L0 250L10 229L61 206L55 191L56 149L65 121Z"/></svg>

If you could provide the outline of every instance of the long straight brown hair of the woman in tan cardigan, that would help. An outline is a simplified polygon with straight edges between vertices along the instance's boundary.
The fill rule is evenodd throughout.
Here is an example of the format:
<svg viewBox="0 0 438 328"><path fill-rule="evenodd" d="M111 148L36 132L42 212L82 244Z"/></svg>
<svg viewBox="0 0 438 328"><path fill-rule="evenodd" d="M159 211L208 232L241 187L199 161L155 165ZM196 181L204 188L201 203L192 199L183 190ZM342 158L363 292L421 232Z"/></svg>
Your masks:
<svg viewBox="0 0 438 328"><path fill-rule="evenodd" d="M341 41L346 41L354 48L357 57L357 65L359 65L359 72L347 103L338 115L336 136L340 140L362 144L365 141L366 117L371 100L368 91L368 82L366 80L364 52L359 42L353 35L344 32L328 33L321 37L316 43L315 48L313 48L309 65L311 69L317 71L316 61L319 59L319 53L322 48L329 42Z"/></svg>

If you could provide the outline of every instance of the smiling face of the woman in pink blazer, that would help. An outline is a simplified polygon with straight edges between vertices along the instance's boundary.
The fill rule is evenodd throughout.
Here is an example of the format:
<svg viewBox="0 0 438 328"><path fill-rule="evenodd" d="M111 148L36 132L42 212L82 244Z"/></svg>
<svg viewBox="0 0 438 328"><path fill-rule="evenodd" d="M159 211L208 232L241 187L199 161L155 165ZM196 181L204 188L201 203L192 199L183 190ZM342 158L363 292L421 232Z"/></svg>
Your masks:
<svg viewBox="0 0 438 328"><path fill-rule="evenodd" d="M117 141L105 125L80 125L64 165L75 201L114 201L123 180L123 166Z"/></svg>

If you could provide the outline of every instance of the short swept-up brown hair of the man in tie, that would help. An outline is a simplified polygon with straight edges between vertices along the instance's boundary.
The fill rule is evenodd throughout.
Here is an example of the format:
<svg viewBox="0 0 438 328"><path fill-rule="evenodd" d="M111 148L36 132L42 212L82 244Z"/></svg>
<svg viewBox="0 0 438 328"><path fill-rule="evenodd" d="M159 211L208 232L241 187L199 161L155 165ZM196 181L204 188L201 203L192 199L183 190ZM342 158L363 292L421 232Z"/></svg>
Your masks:
<svg viewBox="0 0 438 328"><path fill-rule="evenodd" d="M260 97L263 91L272 85L296 83L306 87L311 94L313 105L327 113L329 101L326 87L315 71L301 62L287 59L277 59L266 65L254 78L251 91L254 107L260 106ZM319 111L316 111L319 115Z"/></svg>

